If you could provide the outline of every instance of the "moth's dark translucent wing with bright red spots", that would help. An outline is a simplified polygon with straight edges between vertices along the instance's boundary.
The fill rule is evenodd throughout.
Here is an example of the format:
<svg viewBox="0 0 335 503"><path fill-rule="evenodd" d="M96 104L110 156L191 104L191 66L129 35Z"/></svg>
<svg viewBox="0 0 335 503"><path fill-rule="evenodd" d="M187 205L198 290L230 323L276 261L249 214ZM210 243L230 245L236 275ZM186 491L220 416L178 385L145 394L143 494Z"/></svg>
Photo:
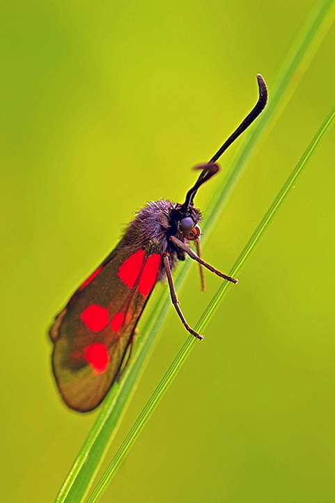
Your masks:
<svg viewBox="0 0 335 503"><path fill-rule="evenodd" d="M114 250L56 317L52 367L68 406L86 412L107 394L153 291L161 255Z"/></svg>

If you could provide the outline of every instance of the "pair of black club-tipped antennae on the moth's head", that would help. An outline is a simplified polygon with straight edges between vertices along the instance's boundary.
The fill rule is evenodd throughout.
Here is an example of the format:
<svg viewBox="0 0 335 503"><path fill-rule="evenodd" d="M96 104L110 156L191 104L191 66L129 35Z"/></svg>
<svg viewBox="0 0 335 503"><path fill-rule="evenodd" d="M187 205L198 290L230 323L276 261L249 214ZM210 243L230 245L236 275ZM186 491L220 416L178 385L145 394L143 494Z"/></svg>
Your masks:
<svg viewBox="0 0 335 503"><path fill-rule="evenodd" d="M243 133L251 125L252 122L258 117L258 115L263 111L265 105L267 104L267 86L265 83L265 80L263 77L258 74L257 75L257 81L258 81L258 90L259 90L259 97L256 105L254 108L251 110L250 113L248 113L247 117L241 122L241 124L235 129L235 131L229 136L229 138L224 142L224 144L219 148L216 154L213 155L212 159L208 161L205 166L199 166L199 168L203 168L201 171L200 175L198 176L198 179L196 180L196 183L192 187L192 189L189 189L189 191L186 194L186 199L183 204L185 207L189 207L189 205L193 205L193 200L194 200L194 195L196 195L196 191L198 191L198 188L207 182L217 171L219 170L218 166L215 164L217 159L221 157L221 155L227 150L227 148L240 136L240 134ZM217 166L217 169L213 170L213 166Z"/></svg>

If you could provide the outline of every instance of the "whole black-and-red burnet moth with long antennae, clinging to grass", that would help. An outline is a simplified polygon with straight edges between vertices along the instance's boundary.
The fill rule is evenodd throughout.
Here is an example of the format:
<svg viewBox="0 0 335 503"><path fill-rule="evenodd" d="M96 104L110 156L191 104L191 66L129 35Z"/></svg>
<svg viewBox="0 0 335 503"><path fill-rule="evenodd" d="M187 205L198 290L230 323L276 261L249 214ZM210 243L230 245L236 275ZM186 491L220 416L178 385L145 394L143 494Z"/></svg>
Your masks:
<svg viewBox="0 0 335 503"><path fill-rule="evenodd" d="M186 330L172 273L186 255L224 280L237 283L200 256L201 212L194 207L199 187L219 171L221 154L254 122L267 102L267 87L257 76L259 98L228 140L201 170L182 204L149 202L128 225L123 238L104 262L80 285L58 314L49 335L54 343L52 367L61 396L70 408L87 412L97 407L129 360L134 333L157 280L167 279L171 300ZM189 247L194 241L197 253ZM202 271L202 269L201 269ZM201 273L201 284L203 277Z"/></svg>

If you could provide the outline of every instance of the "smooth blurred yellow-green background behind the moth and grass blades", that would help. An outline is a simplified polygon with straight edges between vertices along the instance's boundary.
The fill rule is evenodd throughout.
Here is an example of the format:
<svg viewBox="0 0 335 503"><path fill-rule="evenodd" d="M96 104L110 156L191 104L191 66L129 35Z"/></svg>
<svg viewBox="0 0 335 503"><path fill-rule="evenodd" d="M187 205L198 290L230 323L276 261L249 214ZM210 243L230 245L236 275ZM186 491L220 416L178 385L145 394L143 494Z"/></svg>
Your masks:
<svg viewBox="0 0 335 503"><path fill-rule="evenodd" d="M271 93L312 7L1 6L2 502L52 502L97 414L73 413L59 399L46 335L54 314L133 211L160 197L183 200L195 179L190 168L256 102L256 73ZM205 243L205 259L226 273L334 105L334 42L333 26ZM103 502L334 502L334 136ZM221 176L237 147L221 159ZM199 207L215 183L198 194ZM197 273L193 267L179 292L193 326L220 284L207 274L201 294ZM185 337L171 308L109 460Z"/></svg>

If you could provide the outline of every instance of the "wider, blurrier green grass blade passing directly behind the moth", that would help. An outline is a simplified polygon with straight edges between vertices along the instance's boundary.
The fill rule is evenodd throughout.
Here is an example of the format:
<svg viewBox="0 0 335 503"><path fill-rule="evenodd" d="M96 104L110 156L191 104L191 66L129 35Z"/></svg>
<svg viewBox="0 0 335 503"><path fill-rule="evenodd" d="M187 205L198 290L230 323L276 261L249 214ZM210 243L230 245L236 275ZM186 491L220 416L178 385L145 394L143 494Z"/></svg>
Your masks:
<svg viewBox="0 0 335 503"><path fill-rule="evenodd" d="M215 224L217 218L219 218L224 202L228 199L228 195L231 193L238 177L240 177L242 168L247 163L256 145L256 141L259 141L265 127L268 127L270 119L272 120L278 116L279 112L283 109L284 101L287 102L288 97L295 90L298 83L297 74L299 74L299 77L302 77L309 61L311 61L311 57L320 45L320 40L327 33L334 19L334 14L334 0L323 0L313 9L302 30L299 31L293 48L290 49L288 57L283 63L282 70L279 72L279 78L276 80L276 87L271 94L267 109L258 118L256 127L252 129L251 134L247 137L247 141L240 149L238 156L231 166L228 177L223 180L225 182L224 186L222 184L219 186L210 206L205 211L203 230L207 236L210 228ZM191 266L190 262L185 263L177 271L175 277L176 287L180 287L183 280L185 280ZM169 306L169 292L166 288L165 292L162 292L157 299L146 325L141 330L143 337L141 337L141 342L137 347L131 364L127 368L127 372L125 372L120 383L116 383L113 386L105 399L100 415L97 417L95 424L93 424L67 479L65 479L59 495L56 497L56 503L79 503L84 501L84 497L102 463L104 454L107 452L116 434L118 424L120 424L120 420L125 413L126 406L136 389L139 376L148 361L148 356L153 351L155 337L159 328L164 323L164 317ZM198 326L196 326L196 329L201 330ZM185 342L185 346L190 348L192 348L192 344L194 344L193 337L187 339ZM185 359L184 356L182 358Z"/></svg>

